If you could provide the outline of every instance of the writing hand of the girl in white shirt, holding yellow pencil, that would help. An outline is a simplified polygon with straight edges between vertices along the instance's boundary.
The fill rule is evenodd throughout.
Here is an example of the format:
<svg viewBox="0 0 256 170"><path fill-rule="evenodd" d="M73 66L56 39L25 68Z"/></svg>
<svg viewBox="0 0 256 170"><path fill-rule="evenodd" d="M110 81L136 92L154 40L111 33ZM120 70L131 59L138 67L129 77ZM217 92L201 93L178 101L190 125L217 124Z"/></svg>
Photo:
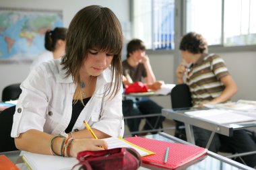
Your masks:
<svg viewBox="0 0 256 170"><path fill-rule="evenodd" d="M76 157L77 153L81 151L99 151L104 149L108 149L108 144L104 140L93 138L74 139L70 155Z"/></svg>

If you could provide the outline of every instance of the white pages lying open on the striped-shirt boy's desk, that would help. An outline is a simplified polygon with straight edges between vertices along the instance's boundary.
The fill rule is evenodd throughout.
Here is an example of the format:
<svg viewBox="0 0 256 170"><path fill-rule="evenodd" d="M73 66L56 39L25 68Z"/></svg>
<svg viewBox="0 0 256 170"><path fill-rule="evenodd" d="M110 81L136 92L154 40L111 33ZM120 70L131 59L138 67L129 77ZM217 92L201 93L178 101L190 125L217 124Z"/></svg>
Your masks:
<svg viewBox="0 0 256 170"><path fill-rule="evenodd" d="M256 118L245 116L243 114L238 114L232 110L197 110L192 112L185 112L185 114L196 118L208 120L210 122L215 122L218 124L228 124L234 122L246 122L256 120Z"/></svg>

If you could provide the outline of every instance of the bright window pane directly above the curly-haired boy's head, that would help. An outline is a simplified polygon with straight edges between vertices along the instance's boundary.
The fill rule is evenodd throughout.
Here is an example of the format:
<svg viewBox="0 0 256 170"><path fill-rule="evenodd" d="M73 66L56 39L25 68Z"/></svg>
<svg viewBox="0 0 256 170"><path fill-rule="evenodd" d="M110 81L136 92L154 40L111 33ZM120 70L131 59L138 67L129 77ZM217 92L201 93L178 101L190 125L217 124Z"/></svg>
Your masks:
<svg viewBox="0 0 256 170"><path fill-rule="evenodd" d="M209 45L221 43L222 0L187 0L186 32L201 34Z"/></svg>

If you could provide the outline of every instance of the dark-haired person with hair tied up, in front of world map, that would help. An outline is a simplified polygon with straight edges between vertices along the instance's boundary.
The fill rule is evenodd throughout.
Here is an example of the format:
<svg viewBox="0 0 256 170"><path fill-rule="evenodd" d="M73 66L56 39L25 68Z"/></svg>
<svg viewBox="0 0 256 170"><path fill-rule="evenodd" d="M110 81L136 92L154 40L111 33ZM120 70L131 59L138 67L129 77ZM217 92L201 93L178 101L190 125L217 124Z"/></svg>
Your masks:
<svg viewBox="0 0 256 170"><path fill-rule="evenodd" d="M67 35L67 28L55 28L54 30L47 30L44 36L45 52L40 54L30 66L30 70L38 67L40 63L57 59L65 54L65 39Z"/></svg>

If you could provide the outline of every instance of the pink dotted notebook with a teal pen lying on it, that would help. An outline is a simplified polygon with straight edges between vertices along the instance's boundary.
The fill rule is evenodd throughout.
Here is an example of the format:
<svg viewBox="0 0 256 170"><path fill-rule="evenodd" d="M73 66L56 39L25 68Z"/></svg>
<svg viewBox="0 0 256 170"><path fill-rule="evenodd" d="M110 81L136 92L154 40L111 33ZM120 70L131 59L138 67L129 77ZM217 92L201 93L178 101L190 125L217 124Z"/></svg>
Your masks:
<svg viewBox="0 0 256 170"><path fill-rule="evenodd" d="M141 157L143 163L168 169L181 167L207 153L207 149L199 146L141 138L138 136L125 138L125 140L156 153L155 155ZM164 163L167 147L169 147L168 159Z"/></svg>

